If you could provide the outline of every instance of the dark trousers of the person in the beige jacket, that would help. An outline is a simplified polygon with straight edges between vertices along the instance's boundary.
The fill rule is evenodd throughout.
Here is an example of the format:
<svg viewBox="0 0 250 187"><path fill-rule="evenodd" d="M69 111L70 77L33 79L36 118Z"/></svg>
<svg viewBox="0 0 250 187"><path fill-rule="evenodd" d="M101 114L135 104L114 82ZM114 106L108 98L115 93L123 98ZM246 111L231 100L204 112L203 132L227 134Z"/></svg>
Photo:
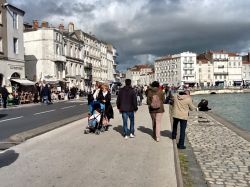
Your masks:
<svg viewBox="0 0 250 187"><path fill-rule="evenodd" d="M186 133L186 128L187 128L187 120L174 118L172 138L174 138L174 139L176 138L177 126L178 126L179 122L180 122L180 138L179 138L178 144L180 147L183 147L184 143L185 143L185 133Z"/></svg>

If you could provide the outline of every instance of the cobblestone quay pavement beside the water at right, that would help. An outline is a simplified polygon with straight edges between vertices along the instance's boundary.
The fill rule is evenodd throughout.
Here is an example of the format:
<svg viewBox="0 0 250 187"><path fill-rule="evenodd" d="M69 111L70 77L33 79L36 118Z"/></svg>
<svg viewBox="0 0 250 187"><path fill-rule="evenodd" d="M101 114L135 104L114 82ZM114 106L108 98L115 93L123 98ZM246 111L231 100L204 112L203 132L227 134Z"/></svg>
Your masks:
<svg viewBox="0 0 250 187"><path fill-rule="evenodd" d="M187 137L210 187L250 186L250 142L204 112L192 112Z"/></svg>

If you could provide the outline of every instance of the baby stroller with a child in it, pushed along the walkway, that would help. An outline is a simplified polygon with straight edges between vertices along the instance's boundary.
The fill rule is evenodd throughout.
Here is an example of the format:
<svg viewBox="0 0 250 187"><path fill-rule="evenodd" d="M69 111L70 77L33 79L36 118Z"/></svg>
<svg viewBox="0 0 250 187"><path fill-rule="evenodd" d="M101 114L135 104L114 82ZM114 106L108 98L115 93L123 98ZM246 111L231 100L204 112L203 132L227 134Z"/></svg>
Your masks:
<svg viewBox="0 0 250 187"><path fill-rule="evenodd" d="M88 126L84 130L85 134L95 133L99 135L101 132L105 131L105 127L103 125L104 119L104 109L101 107L100 103L95 103L93 105L92 114L88 117Z"/></svg>

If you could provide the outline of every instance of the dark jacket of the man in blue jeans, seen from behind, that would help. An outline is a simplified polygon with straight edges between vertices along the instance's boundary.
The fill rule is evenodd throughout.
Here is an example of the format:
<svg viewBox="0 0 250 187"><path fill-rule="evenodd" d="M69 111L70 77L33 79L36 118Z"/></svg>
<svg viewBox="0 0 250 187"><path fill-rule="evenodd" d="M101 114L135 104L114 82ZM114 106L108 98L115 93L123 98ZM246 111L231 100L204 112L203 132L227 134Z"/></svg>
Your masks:
<svg viewBox="0 0 250 187"><path fill-rule="evenodd" d="M138 110L136 93L131 86L124 86L120 89L116 106L120 112L134 112Z"/></svg>

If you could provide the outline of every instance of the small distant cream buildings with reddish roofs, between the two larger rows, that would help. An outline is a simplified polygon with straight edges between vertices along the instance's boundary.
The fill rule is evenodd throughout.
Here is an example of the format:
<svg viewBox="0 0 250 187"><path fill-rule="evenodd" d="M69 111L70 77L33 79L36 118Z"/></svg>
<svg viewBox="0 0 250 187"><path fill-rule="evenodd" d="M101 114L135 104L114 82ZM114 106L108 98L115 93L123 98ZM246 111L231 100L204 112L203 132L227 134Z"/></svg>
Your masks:
<svg viewBox="0 0 250 187"><path fill-rule="evenodd" d="M133 86L137 85L143 86L145 82L151 83L152 81L151 75L153 71L154 70L151 65L148 64L135 65L134 67L127 69L126 78L131 79Z"/></svg>

